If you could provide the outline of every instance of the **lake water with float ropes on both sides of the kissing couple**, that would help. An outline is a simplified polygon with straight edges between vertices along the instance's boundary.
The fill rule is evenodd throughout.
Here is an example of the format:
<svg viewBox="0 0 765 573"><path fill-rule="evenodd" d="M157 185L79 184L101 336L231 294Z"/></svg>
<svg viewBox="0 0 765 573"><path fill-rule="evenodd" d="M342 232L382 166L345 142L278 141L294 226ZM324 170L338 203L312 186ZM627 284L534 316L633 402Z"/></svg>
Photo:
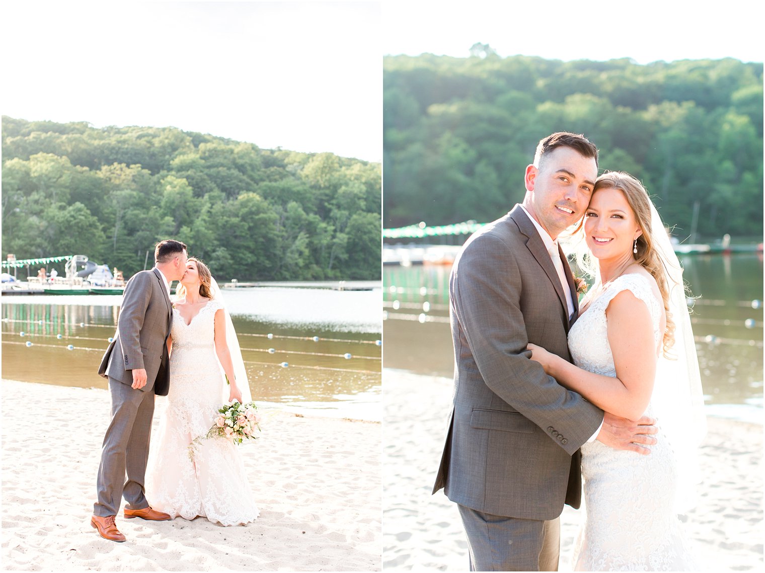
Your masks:
<svg viewBox="0 0 765 573"><path fill-rule="evenodd" d="M225 297L256 402L381 419L379 288L237 288ZM121 296L3 296L2 377L106 388L96 370L121 303Z"/></svg>

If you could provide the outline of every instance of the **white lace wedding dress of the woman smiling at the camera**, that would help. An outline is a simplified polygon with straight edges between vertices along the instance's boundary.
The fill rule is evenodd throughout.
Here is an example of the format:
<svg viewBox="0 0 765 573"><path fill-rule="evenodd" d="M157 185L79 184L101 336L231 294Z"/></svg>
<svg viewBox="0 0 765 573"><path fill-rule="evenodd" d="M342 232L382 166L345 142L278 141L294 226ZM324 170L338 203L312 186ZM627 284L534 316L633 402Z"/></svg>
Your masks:
<svg viewBox="0 0 765 573"><path fill-rule="evenodd" d="M606 308L629 289L648 306L657 347L661 307L643 275L621 275L596 298L568 333L574 362L590 372L616 376L608 344ZM656 380L656 385L661 384ZM652 415L649 404L647 415ZM673 510L677 471L672 444L659 423L651 454L609 448L599 441L584 444L582 477L586 523L571 559L575 571L700 571Z"/></svg>

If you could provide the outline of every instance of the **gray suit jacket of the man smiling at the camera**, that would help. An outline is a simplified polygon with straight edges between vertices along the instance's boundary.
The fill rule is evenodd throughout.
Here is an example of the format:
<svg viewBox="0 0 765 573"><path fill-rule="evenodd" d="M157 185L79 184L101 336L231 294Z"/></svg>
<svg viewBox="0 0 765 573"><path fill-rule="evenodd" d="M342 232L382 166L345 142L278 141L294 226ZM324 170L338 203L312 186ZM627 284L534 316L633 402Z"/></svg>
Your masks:
<svg viewBox="0 0 765 573"><path fill-rule="evenodd" d="M564 268L576 301L565 259ZM571 360L571 324L555 265L519 206L467 240L449 299L454 410L433 493L444 487L456 503L524 519L578 507L579 448L603 412L528 359L532 342Z"/></svg>

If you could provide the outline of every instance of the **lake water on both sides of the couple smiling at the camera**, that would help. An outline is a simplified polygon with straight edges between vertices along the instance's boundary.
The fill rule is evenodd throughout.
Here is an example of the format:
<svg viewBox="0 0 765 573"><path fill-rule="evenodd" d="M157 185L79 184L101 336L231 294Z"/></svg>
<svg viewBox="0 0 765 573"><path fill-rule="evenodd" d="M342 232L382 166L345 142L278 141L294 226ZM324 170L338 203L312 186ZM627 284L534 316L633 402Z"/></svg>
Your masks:
<svg viewBox="0 0 765 573"><path fill-rule="evenodd" d="M763 421L763 257L682 256L708 415ZM386 368L454 373L448 265L383 267ZM754 303L753 303L754 301Z"/></svg>

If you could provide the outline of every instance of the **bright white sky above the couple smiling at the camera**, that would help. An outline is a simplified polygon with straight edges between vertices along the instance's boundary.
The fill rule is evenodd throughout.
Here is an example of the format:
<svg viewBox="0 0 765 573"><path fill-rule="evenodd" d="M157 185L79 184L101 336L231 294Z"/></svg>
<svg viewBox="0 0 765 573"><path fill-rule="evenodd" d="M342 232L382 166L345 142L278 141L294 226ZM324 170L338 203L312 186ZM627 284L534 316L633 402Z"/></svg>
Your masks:
<svg viewBox="0 0 765 573"><path fill-rule="evenodd" d="M762 18L755 5L750 0L386 0L382 51L467 57L470 46L480 42L503 57L762 62Z"/></svg>

